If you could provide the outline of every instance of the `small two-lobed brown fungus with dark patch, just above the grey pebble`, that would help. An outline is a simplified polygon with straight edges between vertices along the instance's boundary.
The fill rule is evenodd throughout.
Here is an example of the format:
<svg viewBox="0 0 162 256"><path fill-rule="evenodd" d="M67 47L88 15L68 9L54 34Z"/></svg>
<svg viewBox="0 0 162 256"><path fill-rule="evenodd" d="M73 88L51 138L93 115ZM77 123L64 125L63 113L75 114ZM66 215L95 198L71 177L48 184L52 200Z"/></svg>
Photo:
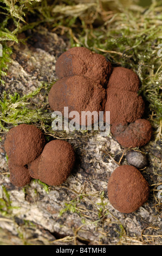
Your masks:
<svg viewBox="0 0 162 256"><path fill-rule="evenodd" d="M152 126L146 119L138 119L134 123L114 123L111 132L122 147L135 148L147 144L152 136Z"/></svg>

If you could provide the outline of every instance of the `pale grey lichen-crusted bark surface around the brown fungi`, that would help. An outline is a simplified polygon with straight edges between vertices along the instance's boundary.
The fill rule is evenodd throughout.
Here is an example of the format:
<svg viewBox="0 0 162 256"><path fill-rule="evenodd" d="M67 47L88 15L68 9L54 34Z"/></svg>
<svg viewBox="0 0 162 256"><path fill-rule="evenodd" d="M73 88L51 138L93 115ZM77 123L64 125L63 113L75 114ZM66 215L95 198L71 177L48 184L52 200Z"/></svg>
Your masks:
<svg viewBox="0 0 162 256"><path fill-rule="evenodd" d="M9 72L5 78L6 90L10 87L13 92L18 89L25 94L37 87L44 78L48 82L56 78L55 60L67 46L46 29L40 28L37 34L42 38L41 45L14 46L15 59L10 66L13 72ZM47 34L48 42L43 44ZM54 45L57 48L52 51ZM72 135L68 142L75 149L76 165L66 182L48 187L33 180L24 189L10 183L4 152L5 136L0 142L0 185L3 185L4 197L3 205L2 200L0 202L1 241L7 237L11 244L161 243L160 201L158 192L153 191L153 185L160 184L160 142L152 141L141 149L147 151L148 156L148 165L141 173L151 186L150 198L134 213L121 214L109 203L107 181L116 167L127 164L126 150L111 135L102 137L100 132L87 133L87 136L80 138Z"/></svg>

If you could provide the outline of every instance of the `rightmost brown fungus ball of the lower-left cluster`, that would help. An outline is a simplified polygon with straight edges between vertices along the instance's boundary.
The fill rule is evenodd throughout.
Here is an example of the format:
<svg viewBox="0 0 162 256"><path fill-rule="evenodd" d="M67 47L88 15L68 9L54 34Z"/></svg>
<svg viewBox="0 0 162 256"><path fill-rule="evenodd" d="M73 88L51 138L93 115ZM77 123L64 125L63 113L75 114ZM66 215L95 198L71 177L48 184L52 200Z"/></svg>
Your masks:
<svg viewBox="0 0 162 256"><path fill-rule="evenodd" d="M70 175L75 153L66 141L56 139L46 144L38 167L38 179L49 186L61 185Z"/></svg>

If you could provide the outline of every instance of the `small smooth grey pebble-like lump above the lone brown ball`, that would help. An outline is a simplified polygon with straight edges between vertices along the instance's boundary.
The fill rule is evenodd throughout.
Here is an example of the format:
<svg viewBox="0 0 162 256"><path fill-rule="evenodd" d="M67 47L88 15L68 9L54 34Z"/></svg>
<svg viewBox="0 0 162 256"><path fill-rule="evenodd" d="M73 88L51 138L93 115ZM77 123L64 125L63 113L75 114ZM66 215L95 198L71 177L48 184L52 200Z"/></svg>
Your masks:
<svg viewBox="0 0 162 256"><path fill-rule="evenodd" d="M142 169L147 166L146 155L139 151L129 150L126 154L126 160L129 164L135 166L138 169Z"/></svg>

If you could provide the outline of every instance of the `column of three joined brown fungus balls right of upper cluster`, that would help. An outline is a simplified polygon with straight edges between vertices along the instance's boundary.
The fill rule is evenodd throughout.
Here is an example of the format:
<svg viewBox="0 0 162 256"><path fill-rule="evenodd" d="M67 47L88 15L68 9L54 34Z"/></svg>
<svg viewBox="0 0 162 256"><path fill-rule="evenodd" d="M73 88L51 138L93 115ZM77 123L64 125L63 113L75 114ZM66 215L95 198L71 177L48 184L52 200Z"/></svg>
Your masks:
<svg viewBox="0 0 162 256"><path fill-rule="evenodd" d="M109 111L111 132L122 147L141 147L151 139L151 124L141 119L145 103L137 94L140 85L138 75L126 68L114 68L109 77L104 120Z"/></svg>

